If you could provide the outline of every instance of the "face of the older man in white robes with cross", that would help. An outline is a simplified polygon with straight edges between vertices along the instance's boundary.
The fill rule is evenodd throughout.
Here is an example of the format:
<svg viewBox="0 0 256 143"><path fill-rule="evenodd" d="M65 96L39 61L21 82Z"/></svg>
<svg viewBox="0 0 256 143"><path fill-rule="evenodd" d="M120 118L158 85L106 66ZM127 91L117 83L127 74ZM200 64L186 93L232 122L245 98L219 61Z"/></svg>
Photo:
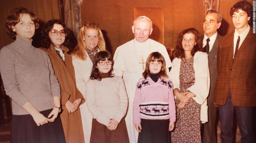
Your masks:
<svg viewBox="0 0 256 143"><path fill-rule="evenodd" d="M137 19L132 26L134 37L138 42L145 42L152 30L151 23L147 19Z"/></svg>

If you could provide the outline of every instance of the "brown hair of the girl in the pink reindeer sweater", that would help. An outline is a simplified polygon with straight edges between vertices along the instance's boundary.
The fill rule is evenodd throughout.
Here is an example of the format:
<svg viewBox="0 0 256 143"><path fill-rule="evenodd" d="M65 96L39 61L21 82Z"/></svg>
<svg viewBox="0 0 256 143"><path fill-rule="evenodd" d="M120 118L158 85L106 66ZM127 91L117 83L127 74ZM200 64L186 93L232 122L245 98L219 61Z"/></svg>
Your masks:
<svg viewBox="0 0 256 143"><path fill-rule="evenodd" d="M153 62L157 61L157 62L161 62L162 63L162 67L161 67L161 70L159 72L158 78L166 78L166 77L168 77L167 74L166 74L166 71L165 71L166 68L165 68L164 57L159 52L153 52L153 53L149 54L149 56L147 58L147 61L146 61L146 68L145 68L145 71L142 73L142 76L144 76L145 79L149 76L149 73L150 73L150 71L149 71L149 64L152 61Z"/></svg>

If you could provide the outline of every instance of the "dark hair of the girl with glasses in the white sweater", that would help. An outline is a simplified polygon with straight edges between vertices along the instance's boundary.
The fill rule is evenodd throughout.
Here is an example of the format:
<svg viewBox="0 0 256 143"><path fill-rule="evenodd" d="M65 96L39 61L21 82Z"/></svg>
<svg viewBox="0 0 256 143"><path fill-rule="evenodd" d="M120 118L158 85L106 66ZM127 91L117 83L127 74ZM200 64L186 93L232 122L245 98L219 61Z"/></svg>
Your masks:
<svg viewBox="0 0 256 143"><path fill-rule="evenodd" d="M100 51L100 52L96 53L96 55L94 57L93 69L92 69L92 72L91 72L90 79L96 79L98 81L101 81L101 76L99 74L99 69L97 68L97 63L99 61L105 61L106 58L107 58L107 60L112 62L111 69L108 72L108 75L109 75L109 77L114 77L114 75L112 73L113 65L114 65L114 60L113 60L111 54L109 52L107 52L107 51Z"/></svg>

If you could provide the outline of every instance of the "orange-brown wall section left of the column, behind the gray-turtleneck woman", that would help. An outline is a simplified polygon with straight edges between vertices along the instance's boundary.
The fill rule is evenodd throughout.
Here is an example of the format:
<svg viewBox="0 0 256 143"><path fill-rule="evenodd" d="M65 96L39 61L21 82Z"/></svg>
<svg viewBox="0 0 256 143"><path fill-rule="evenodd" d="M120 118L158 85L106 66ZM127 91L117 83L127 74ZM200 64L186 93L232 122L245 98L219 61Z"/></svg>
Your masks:
<svg viewBox="0 0 256 143"><path fill-rule="evenodd" d="M5 22L11 10L16 7L25 7L35 12L41 23L51 19L59 19L58 0L3 0L0 4L0 48L10 44L13 40L6 34ZM36 32L39 32L38 30Z"/></svg>

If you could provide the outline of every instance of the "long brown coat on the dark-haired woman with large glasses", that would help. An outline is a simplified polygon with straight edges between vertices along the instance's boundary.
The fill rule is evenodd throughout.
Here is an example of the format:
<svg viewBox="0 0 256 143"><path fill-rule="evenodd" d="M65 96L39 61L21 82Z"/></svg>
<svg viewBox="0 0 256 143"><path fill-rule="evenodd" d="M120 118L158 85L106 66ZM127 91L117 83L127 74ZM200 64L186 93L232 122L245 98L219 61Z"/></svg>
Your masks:
<svg viewBox="0 0 256 143"><path fill-rule="evenodd" d="M67 54L68 48L61 46L65 55L65 64L61 58L56 53L54 46L51 44L50 48L41 48L50 57L54 74L57 77L60 88L61 88L61 105L62 113L60 114L60 119L62 122L64 135L67 143L84 143L84 134L82 128L82 120L80 108L74 113L68 113L65 107L66 102L74 102L76 99L83 99L84 97L76 88L75 85L75 71L72 64L72 57Z"/></svg>

